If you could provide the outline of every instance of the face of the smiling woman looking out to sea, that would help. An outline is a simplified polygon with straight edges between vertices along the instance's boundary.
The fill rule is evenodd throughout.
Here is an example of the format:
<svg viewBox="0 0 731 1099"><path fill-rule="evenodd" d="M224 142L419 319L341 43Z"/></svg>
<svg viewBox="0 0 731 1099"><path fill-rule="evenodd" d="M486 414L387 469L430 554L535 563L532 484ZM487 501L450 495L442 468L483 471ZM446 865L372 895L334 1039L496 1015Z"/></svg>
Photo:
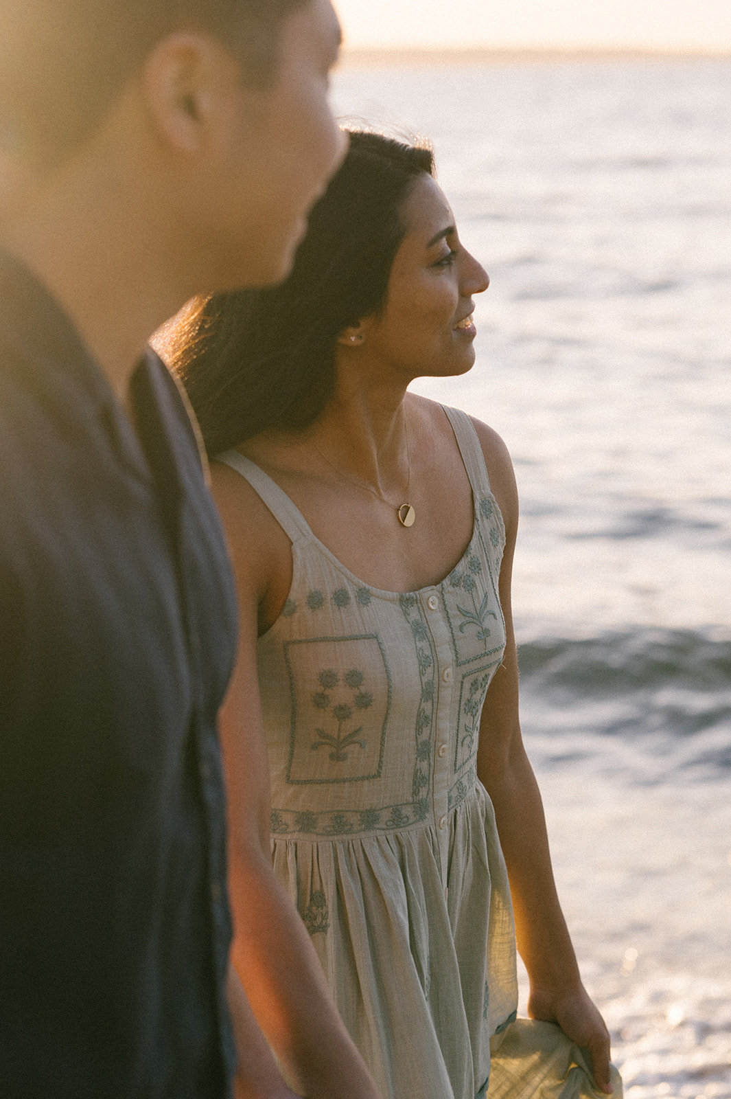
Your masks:
<svg viewBox="0 0 731 1099"><path fill-rule="evenodd" d="M474 363L472 296L490 285L460 244L454 215L430 176L401 209L406 234L391 268L383 309L361 322L363 349L412 377L464 374Z"/></svg>

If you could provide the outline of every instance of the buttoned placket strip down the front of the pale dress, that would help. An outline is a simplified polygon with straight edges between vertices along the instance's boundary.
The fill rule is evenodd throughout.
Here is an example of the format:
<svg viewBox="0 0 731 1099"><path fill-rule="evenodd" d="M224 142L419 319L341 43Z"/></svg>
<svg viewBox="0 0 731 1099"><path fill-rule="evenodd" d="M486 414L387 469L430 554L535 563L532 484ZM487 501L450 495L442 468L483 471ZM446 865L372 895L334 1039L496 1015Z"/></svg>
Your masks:
<svg viewBox="0 0 731 1099"><path fill-rule="evenodd" d="M436 657L436 715L434 722L434 819L439 843L441 880L447 898L449 869L449 784L450 784L450 722L452 709L452 647L441 600L437 591L421 597L424 618L428 623Z"/></svg>

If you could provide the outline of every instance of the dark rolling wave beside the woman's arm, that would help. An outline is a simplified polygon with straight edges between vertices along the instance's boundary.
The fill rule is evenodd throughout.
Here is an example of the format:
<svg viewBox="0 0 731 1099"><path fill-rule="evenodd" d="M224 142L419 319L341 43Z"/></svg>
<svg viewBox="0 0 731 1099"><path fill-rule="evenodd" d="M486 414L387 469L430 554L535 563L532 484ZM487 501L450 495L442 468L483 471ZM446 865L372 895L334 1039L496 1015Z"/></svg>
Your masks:
<svg viewBox="0 0 731 1099"><path fill-rule="evenodd" d="M731 771L731 635L637 629L519 647L524 728L543 767L628 781Z"/></svg>

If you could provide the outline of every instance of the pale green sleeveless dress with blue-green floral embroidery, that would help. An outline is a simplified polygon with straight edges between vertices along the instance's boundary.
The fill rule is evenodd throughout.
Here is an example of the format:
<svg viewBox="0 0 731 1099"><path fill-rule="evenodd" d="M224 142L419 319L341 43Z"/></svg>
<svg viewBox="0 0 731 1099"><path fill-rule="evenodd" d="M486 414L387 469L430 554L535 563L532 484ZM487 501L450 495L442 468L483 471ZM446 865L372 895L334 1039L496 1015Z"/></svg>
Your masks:
<svg viewBox="0 0 731 1099"><path fill-rule="evenodd" d="M217 458L292 542L289 598L257 651L273 866L389 1099L483 1096L491 1037L517 1008L507 873L475 766L505 648L505 529L469 417L445 412L474 528L449 576L418 591L363 584L258 466Z"/></svg>

